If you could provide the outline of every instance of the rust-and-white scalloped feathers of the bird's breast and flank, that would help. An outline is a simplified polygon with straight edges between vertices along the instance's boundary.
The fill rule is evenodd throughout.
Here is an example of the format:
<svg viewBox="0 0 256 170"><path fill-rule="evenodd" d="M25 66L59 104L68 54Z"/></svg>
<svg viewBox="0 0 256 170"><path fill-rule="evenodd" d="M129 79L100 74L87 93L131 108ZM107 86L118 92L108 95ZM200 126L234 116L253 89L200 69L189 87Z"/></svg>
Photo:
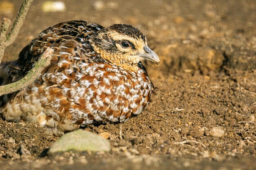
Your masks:
<svg viewBox="0 0 256 170"><path fill-rule="evenodd" d="M30 92L60 119L81 126L123 122L140 114L153 96L153 84L142 69L135 73L105 63L64 60L54 72L49 68Z"/></svg>

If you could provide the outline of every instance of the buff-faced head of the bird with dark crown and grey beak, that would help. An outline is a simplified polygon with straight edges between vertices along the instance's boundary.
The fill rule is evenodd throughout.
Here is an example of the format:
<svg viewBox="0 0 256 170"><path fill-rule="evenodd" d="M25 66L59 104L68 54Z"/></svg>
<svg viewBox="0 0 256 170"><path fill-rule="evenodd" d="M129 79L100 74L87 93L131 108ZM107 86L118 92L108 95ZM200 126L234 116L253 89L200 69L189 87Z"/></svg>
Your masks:
<svg viewBox="0 0 256 170"><path fill-rule="evenodd" d="M135 68L141 60L159 64L157 54L147 46L143 33L128 24L114 24L94 33L90 39L95 52L108 62Z"/></svg>

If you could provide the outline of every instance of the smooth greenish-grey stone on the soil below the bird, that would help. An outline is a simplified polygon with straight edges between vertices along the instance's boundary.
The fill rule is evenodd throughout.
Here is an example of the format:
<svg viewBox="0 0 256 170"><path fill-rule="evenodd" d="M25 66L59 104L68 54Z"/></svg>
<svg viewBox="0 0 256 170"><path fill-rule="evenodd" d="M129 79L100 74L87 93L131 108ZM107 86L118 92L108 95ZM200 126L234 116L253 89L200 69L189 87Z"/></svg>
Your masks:
<svg viewBox="0 0 256 170"><path fill-rule="evenodd" d="M86 130L76 130L66 133L54 142L49 153L66 152L74 150L81 151L110 151L110 143L103 137Z"/></svg>

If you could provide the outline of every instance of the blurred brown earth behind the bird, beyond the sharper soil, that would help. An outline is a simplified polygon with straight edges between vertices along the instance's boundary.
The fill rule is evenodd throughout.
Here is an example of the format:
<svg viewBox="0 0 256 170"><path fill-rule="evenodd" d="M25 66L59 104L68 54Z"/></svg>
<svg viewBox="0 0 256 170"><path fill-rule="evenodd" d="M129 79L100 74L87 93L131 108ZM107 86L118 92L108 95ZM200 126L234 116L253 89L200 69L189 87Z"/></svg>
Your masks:
<svg viewBox="0 0 256 170"><path fill-rule="evenodd" d="M21 3L0 0L0 19L14 20ZM68 20L138 27L162 60L159 75L153 78L166 78L176 71L209 74L223 66L256 68L255 0L34 0L4 61L17 58L47 26Z"/></svg>

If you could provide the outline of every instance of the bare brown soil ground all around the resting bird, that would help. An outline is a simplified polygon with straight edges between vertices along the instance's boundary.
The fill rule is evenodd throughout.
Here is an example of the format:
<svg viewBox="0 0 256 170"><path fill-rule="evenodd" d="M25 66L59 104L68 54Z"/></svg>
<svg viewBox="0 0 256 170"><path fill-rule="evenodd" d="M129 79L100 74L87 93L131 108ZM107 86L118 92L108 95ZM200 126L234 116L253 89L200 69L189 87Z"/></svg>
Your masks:
<svg viewBox="0 0 256 170"><path fill-rule="evenodd" d="M22 0L9 0L15 18ZM90 125L107 132L109 153L47 155L58 139L39 124L0 118L1 169L255 169L256 2L63 0L64 12L43 12L35 0L4 61L47 26L87 20L137 26L160 57L145 62L156 87L146 110L122 124Z"/></svg>

